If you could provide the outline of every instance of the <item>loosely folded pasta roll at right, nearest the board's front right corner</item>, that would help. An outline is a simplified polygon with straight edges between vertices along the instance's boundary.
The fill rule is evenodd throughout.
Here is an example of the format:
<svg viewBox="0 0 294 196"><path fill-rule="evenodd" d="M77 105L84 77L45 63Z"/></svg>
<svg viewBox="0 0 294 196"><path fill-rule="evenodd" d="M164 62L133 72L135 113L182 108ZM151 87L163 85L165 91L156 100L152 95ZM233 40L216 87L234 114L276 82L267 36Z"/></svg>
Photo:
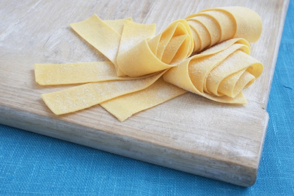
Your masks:
<svg viewBox="0 0 294 196"><path fill-rule="evenodd" d="M244 39L231 39L184 60L165 73L164 80L211 100L244 104L241 90L263 71L263 65L249 52Z"/></svg>

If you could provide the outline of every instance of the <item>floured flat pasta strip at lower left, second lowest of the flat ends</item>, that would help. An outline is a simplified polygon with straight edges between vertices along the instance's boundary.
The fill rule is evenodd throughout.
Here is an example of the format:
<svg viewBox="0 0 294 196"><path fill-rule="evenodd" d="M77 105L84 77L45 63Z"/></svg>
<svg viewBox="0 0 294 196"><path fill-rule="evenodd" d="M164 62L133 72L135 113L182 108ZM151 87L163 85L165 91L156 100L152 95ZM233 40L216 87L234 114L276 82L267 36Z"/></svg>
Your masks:
<svg viewBox="0 0 294 196"><path fill-rule="evenodd" d="M61 91L43 94L42 98L50 110L56 114L66 114L82 110L103 101L147 88L162 74L138 80L114 80L93 82Z"/></svg>

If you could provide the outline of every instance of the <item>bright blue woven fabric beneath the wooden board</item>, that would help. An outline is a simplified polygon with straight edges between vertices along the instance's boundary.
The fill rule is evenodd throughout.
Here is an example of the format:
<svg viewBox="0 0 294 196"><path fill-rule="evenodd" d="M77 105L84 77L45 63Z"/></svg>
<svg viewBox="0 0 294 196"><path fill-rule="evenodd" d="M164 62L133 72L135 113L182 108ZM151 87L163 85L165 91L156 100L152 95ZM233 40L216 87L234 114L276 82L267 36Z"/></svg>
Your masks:
<svg viewBox="0 0 294 196"><path fill-rule="evenodd" d="M294 196L294 1L270 91L256 183L242 188L0 125L0 195Z"/></svg>

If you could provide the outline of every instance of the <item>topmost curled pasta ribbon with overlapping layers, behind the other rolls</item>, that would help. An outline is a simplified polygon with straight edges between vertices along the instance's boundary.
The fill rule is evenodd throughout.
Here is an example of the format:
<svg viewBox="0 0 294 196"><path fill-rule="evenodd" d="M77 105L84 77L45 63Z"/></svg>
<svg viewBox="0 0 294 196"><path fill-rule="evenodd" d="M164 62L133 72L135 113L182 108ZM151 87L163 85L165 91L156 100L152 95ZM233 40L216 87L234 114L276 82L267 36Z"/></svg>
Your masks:
<svg viewBox="0 0 294 196"><path fill-rule="evenodd" d="M188 16L186 20L195 31L194 39L201 39L201 47L196 46L194 52L232 38L256 42L262 32L260 16L240 6L205 9Z"/></svg>

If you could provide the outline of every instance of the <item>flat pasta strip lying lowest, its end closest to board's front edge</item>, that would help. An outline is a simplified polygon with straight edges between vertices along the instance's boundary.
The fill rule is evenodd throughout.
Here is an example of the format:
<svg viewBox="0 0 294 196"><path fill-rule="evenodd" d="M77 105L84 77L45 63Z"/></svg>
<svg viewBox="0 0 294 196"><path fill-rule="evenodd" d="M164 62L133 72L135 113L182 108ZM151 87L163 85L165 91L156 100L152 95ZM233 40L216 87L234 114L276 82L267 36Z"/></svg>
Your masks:
<svg viewBox="0 0 294 196"><path fill-rule="evenodd" d="M108 112L123 122L133 114L154 107L179 95L184 89L165 82L162 77L144 90L100 103Z"/></svg>

